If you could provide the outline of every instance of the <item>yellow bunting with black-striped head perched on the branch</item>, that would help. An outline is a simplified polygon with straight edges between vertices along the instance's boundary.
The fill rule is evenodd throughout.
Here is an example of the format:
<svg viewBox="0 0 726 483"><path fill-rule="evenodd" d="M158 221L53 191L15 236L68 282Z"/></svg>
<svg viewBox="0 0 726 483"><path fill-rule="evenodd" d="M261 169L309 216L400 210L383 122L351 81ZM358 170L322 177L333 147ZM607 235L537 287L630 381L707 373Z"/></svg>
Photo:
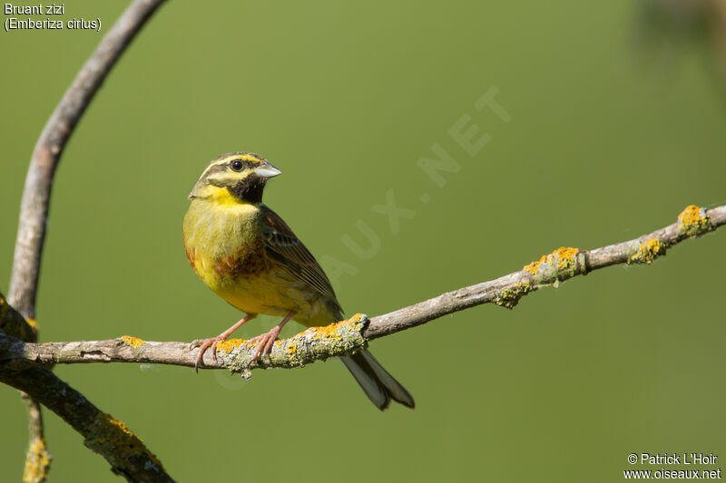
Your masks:
<svg viewBox="0 0 726 483"><path fill-rule="evenodd" d="M307 327L344 320L332 285L318 261L285 221L262 203L267 182L282 174L252 152L212 159L201 173L184 216L183 239L191 268L201 281L244 316L216 337L192 341L199 347L195 369L211 348L258 314L282 317L269 332L252 337L252 361L270 353L290 320ZM414 408L411 394L367 350L340 358L366 393L384 411L390 401Z"/></svg>

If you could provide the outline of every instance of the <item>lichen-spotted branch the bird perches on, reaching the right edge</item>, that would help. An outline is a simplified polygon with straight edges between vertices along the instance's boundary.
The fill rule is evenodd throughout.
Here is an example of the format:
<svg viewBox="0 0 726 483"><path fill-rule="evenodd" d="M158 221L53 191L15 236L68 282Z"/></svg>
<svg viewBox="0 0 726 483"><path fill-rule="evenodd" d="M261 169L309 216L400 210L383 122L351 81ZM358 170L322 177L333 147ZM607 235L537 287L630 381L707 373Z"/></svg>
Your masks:
<svg viewBox="0 0 726 483"><path fill-rule="evenodd" d="M249 377L252 369L299 367L365 347L368 341L397 333L446 314L475 305L494 303L513 308L519 300L546 285L557 286L575 275L618 264L649 265L666 250L686 238L699 237L726 224L726 206L709 210L690 206L678 221L643 237L614 245L581 251L562 247L522 270L495 280L460 288L372 319L357 314L346 321L327 327L312 327L283 341L277 341L270 357L250 362L255 343L231 339L217 344L216 360L205 353L206 369L230 369ZM72 343L22 343L0 336L0 363L22 369L35 362L89 363L133 362L160 363L193 367L197 350L188 343L146 342L124 335L118 339Z"/></svg>

